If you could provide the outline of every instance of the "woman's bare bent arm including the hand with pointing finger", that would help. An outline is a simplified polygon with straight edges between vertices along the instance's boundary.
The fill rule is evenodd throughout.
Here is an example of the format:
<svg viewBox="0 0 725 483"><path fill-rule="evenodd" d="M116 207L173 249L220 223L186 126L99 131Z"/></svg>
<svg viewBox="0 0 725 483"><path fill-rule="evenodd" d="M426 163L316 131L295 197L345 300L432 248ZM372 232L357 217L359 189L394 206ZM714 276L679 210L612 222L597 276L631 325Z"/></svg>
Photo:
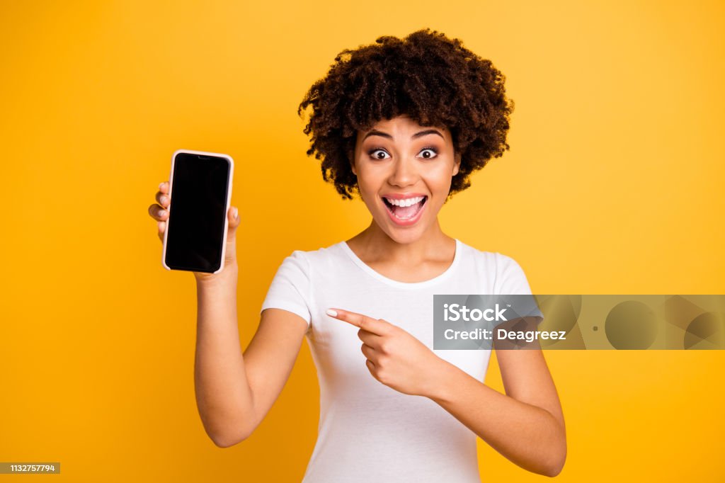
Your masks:
<svg viewBox="0 0 725 483"><path fill-rule="evenodd" d="M502 395L394 323L337 307L327 314L360 329L365 365L382 384L434 400L518 466L559 474L566 459L564 417L538 340L530 349L497 350L507 393ZM531 330L536 320L510 324Z"/></svg>

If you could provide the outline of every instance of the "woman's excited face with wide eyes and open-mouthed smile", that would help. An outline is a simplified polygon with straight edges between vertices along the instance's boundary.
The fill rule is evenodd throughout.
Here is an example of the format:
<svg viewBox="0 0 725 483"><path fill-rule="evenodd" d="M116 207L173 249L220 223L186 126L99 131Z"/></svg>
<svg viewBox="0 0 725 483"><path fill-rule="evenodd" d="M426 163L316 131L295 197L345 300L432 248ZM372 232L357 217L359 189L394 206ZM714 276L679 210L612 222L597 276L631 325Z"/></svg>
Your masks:
<svg viewBox="0 0 725 483"><path fill-rule="evenodd" d="M360 195L378 226L399 243L436 225L459 166L447 128L402 115L357 132L352 172Z"/></svg>

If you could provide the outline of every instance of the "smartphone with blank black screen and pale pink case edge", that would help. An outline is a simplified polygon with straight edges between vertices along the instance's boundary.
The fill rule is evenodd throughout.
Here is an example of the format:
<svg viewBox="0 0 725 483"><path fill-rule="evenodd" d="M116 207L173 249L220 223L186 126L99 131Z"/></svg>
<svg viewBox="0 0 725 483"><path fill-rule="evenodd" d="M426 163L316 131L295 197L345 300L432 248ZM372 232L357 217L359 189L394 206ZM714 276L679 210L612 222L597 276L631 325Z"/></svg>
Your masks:
<svg viewBox="0 0 725 483"><path fill-rule="evenodd" d="M191 149L174 152L162 254L164 268L222 271L233 170L234 161L228 154Z"/></svg>

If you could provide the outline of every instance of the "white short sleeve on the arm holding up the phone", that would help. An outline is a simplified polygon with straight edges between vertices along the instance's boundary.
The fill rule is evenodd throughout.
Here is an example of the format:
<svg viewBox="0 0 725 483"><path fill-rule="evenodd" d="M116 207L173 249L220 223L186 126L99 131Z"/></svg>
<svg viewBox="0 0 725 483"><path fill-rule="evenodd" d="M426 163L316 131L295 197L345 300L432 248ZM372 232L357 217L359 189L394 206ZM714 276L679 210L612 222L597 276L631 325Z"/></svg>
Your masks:
<svg viewBox="0 0 725 483"><path fill-rule="evenodd" d="M304 318L309 328L312 319L310 315L311 292L310 263L305 257L305 252L295 250L282 261L277 269L267 297L262 302L260 313L267 308L288 310Z"/></svg>

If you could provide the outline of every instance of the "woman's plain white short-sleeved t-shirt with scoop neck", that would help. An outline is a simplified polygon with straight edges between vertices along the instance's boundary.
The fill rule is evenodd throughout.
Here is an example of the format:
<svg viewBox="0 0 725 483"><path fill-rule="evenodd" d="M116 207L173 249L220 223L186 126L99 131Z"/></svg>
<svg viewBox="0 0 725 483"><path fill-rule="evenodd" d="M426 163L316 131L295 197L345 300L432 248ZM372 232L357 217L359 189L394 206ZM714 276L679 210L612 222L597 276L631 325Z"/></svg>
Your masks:
<svg viewBox="0 0 725 483"><path fill-rule="evenodd" d="M531 294L513 258L455 241L450 267L412 284L374 271L345 241L283 260L262 310L280 308L307 321L320 384L318 439L303 483L481 481L476 434L428 397L377 381L358 329L325 313L338 307L383 318L433 350L434 294ZM484 381L490 350L434 352Z"/></svg>

